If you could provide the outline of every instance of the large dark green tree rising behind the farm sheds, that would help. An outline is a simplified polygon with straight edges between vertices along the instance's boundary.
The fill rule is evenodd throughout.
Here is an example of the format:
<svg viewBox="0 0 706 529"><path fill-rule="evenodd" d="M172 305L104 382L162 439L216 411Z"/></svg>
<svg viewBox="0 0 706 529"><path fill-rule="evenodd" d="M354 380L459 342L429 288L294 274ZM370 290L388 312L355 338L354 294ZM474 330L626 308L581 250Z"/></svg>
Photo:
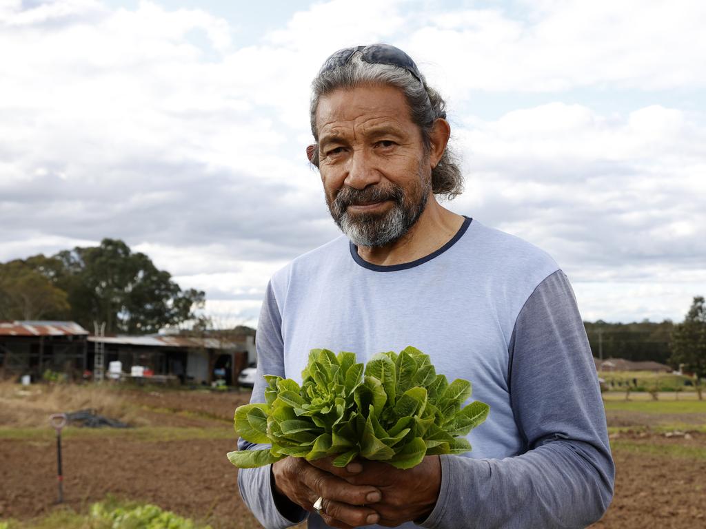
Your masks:
<svg viewBox="0 0 706 529"><path fill-rule="evenodd" d="M72 319L87 329L98 321L105 322L107 334L149 334L191 320L193 310L203 308L203 291L182 291L169 272L118 239L37 255L27 263L66 291Z"/></svg>

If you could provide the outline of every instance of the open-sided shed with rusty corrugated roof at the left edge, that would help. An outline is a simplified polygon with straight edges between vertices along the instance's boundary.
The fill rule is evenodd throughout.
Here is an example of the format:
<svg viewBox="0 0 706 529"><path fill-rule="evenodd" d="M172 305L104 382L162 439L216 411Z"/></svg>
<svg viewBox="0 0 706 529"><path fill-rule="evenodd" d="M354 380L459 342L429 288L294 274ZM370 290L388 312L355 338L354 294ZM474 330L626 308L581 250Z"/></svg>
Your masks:
<svg viewBox="0 0 706 529"><path fill-rule="evenodd" d="M88 363L88 331L74 322L0 321L0 378L46 370L80 378Z"/></svg>

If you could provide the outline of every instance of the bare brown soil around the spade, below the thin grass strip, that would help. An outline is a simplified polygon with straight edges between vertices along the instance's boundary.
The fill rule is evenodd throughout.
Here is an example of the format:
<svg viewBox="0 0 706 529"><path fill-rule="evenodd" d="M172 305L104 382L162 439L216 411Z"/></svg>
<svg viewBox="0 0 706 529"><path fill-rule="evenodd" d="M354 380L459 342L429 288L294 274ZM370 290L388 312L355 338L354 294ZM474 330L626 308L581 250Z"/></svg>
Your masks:
<svg viewBox="0 0 706 529"><path fill-rule="evenodd" d="M234 446L227 439L71 439L63 443L64 498L83 510L110 492L223 529L256 527L238 496L237 468L225 456ZM0 516L28 518L50 511L57 497L54 443L1 441L0 457Z"/></svg>

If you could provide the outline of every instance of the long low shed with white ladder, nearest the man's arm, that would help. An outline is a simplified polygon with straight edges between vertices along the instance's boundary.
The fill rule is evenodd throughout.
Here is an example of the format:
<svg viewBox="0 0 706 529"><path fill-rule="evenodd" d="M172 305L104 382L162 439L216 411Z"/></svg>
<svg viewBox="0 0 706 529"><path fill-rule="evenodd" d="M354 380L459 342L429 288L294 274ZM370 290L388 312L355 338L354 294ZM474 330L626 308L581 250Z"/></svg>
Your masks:
<svg viewBox="0 0 706 529"><path fill-rule="evenodd" d="M148 367L155 375L172 375L182 384L210 384L214 371L226 384L234 384L241 370L255 360L252 336L193 337L180 335L90 336L89 369L93 368L95 344L104 344L104 366L119 360L123 372L133 365Z"/></svg>

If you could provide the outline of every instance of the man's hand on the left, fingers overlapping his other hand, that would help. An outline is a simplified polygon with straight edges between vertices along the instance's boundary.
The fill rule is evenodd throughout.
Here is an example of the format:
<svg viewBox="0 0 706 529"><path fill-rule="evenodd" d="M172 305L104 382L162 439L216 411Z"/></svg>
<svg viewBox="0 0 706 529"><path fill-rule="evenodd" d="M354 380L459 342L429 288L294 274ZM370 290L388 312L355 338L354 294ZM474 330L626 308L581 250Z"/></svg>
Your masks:
<svg viewBox="0 0 706 529"><path fill-rule="evenodd" d="M370 485L351 485L345 480L361 472L359 463L339 468L325 459L317 464L318 468L299 457L286 457L273 463L275 494L311 512L314 501L323 497L321 518L333 527L350 529L378 522L378 513L365 504L380 501L380 490Z"/></svg>

